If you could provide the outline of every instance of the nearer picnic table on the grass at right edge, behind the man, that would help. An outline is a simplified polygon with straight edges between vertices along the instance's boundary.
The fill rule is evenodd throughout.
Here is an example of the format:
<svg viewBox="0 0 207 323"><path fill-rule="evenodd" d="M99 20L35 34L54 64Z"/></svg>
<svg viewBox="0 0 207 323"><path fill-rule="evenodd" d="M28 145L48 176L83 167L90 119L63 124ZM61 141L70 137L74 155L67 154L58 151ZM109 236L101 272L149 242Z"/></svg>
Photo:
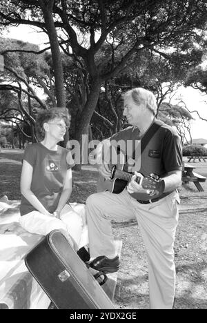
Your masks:
<svg viewBox="0 0 207 323"><path fill-rule="evenodd" d="M202 188L200 183L206 182L206 177L197 174L194 172L195 166L191 166L189 164L183 164L183 172L182 172L182 182L188 183L193 182L199 192L204 192L204 188Z"/></svg>

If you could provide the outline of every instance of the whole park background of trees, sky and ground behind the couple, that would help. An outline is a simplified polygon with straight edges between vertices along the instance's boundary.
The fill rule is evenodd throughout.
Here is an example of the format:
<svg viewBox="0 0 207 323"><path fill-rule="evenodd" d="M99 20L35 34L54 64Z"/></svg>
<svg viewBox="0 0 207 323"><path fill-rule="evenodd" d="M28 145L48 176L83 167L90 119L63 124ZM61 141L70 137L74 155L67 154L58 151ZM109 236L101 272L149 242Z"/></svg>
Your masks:
<svg viewBox="0 0 207 323"><path fill-rule="evenodd" d="M19 149L1 149L0 195L20 199L23 147L36 140L41 108L68 108L65 146L83 134L101 140L128 126L121 93L142 86L155 93L157 117L176 127L183 143L207 139L206 20L204 0L2 0L0 140ZM192 164L207 175L204 161ZM96 190L97 171L79 165L73 182L72 202L84 203ZM193 183L179 189L175 309L207 308L206 182L202 186L203 193ZM146 309L147 260L137 224L132 219L113 229L124 242L115 301Z"/></svg>

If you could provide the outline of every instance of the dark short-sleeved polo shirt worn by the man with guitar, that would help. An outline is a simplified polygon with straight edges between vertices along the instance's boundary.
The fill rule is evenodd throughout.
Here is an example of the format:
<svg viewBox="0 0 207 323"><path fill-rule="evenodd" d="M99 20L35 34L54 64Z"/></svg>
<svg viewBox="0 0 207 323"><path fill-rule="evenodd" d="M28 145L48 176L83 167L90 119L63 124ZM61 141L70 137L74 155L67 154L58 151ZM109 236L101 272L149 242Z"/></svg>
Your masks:
<svg viewBox="0 0 207 323"><path fill-rule="evenodd" d="M110 142L113 146L115 146L115 141L118 142L120 140L124 140L127 148L127 141L141 140L142 137L140 137L139 129L137 127L130 126L113 135L110 138ZM128 152L129 150L126 151ZM131 153L131 155L128 157L132 158L133 154ZM145 177L152 173L158 175L159 177L164 177L166 173L181 169L181 139L177 133L177 130L166 124L162 124L157 132L152 135L150 141L146 145L146 148L141 153L141 168L137 169L137 172L141 173ZM142 194L140 194L140 199L142 197L141 195Z"/></svg>

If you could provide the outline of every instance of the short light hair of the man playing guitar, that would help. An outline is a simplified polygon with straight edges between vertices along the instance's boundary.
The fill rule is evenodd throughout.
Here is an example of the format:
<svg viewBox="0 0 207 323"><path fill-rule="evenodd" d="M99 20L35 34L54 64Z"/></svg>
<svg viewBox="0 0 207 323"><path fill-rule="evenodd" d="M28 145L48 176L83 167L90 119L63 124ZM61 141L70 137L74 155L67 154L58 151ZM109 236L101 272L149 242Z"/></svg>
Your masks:
<svg viewBox="0 0 207 323"><path fill-rule="evenodd" d="M157 101L155 95L146 90L145 88L132 88L132 90L127 91L124 94L124 98L132 97L135 104L146 104L146 107L153 112L154 115L157 114Z"/></svg>

